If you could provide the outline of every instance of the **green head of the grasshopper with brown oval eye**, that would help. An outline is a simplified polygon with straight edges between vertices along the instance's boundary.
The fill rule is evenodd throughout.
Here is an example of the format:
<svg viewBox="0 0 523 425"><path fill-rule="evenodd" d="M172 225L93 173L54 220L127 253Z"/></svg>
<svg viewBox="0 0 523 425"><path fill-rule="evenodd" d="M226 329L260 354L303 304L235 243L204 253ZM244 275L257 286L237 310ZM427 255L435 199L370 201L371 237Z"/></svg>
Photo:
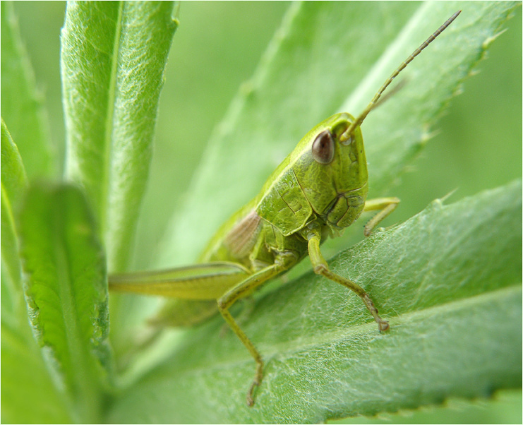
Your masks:
<svg viewBox="0 0 523 425"><path fill-rule="evenodd" d="M356 220L367 197L367 160L359 126L344 140L354 122L335 114L315 126L291 155L294 174L315 213L331 229L343 229Z"/></svg>

